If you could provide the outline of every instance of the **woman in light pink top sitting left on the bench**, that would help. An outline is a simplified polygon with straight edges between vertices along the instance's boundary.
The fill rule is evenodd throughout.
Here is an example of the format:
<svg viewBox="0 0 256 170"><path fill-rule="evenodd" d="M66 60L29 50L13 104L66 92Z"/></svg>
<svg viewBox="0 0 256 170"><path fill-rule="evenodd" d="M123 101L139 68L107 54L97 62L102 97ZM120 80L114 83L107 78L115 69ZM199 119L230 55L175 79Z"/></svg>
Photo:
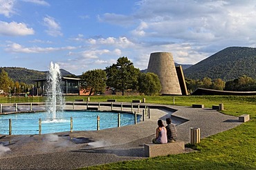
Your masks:
<svg viewBox="0 0 256 170"><path fill-rule="evenodd" d="M157 121L158 128L156 128L156 138L152 140L153 143L167 143L167 132L162 120Z"/></svg>

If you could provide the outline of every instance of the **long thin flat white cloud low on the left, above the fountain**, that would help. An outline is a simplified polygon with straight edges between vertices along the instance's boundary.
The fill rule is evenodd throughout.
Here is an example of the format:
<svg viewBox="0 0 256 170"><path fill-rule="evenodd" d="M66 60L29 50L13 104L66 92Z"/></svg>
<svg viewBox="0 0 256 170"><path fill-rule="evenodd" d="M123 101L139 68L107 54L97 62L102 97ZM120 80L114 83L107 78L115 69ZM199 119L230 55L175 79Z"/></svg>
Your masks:
<svg viewBox="0 0 256 170"><path fill-rule="evenodd" d="M66 47L23 47L18 43L12 43L7 45L7 52L15 53L48 53L55 51L64 51L64 50L75 50L77 47L66 46Z"/></svg>

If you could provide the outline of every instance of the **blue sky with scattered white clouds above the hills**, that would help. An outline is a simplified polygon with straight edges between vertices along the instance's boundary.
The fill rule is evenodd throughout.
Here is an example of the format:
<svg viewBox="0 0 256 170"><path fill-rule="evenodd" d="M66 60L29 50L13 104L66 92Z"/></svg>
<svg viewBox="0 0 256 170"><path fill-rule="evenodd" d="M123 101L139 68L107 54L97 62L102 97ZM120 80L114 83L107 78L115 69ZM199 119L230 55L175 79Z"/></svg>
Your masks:
<svg viewBox="0 0 256 170"><path fill-rule="evenodd" d="M152 52L195 64L230 46L256 46L256 1L0 0L0 67L73 74Z"/></svg>

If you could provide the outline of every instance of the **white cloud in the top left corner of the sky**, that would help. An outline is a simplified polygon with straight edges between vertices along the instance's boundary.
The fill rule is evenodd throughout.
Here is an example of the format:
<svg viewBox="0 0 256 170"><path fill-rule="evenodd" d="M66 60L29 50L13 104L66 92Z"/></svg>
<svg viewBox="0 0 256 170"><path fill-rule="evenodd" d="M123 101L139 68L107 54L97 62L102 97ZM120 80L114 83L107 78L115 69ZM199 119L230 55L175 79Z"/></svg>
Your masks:
<svg viewBox="0 0 256 170"><path fill-rule="evenodd" d="M11 14L15 13L14 4L15 0L0 0L0 14L10 17Z"/></svg>

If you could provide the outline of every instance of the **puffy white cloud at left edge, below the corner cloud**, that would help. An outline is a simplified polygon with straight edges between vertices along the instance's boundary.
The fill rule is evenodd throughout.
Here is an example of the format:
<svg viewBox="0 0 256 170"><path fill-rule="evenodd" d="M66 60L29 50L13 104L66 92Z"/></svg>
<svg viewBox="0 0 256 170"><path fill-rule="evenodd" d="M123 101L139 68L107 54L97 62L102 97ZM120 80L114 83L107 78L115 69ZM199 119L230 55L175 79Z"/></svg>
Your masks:
<svg viewBox="0 0 256 170"><path fill-rule="evenodd" d="M25 23L11 23L0 21L0 35L3 36L26 36L34 34L33 28L28 28Z"/></svg>

